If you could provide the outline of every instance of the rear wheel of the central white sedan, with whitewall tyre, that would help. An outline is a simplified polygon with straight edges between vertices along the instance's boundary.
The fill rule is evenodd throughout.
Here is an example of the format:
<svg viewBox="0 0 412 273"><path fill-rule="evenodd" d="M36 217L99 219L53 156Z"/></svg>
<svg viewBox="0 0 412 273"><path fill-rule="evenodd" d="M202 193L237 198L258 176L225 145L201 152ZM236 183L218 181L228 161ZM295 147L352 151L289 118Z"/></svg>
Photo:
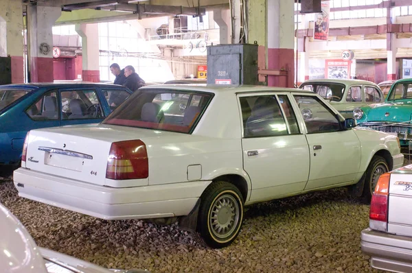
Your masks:
<svg viewBox="0 0 412 273"><path fill-rule="evenodd" d="M201 195L194 238L203 246L224 248L238 237L242 220L242 193L229 182L214 182Z"/></svg>

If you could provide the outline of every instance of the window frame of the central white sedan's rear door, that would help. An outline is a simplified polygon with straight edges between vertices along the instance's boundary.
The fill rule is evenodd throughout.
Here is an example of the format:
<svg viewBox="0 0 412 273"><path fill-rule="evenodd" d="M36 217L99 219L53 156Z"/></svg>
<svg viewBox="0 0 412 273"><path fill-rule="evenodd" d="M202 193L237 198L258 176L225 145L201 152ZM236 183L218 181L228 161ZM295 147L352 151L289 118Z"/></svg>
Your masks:
<svg viewBox="0 0 412 273"><path fill-rule="evenodd" d="M242 105L240 104L240 98L241 97L256 97L256 96L273 96L275 95L276 97L276 101L277 104L279 106L279 109L282 112L282 118L284 119L284 122L286 124L286 130L288 131L287 134L277 134L277 135L266 135L266 136L251 136L251 137L246 137L245 136L245 130L244 130L244 124L243 124L243 115L242 115ZM290 96L288 95L288 92L270 92L270 91L266 91L266 92L262 92L262 93L258 93L258 91L251 91L251 92L244 92L244 93L237 93L236 94L236 99L237 99L237 103L238 103L238 108L239 108L239 121L240 121L240 128L241 128L241 133L242 133L242 139L258 139L258 138L263 138L263 137L287 137L287 136L293 136L293 135L298 135L298 134L291 134L290 133L290 124L288 122L288 119L286 119L286 115L284 112L284 108L282 107L280 101L279 101L279 95L284 95L288 98L289 102L290 102L290 107L294 114L295 114L295 119L296 119L296 123L299 129L299 133L298 134L303 134L302 132L302 128L301 128L301 123L299 122L299 118L296 115L296 110L295 107L293 106L293 102L291 102Z"/></svg>

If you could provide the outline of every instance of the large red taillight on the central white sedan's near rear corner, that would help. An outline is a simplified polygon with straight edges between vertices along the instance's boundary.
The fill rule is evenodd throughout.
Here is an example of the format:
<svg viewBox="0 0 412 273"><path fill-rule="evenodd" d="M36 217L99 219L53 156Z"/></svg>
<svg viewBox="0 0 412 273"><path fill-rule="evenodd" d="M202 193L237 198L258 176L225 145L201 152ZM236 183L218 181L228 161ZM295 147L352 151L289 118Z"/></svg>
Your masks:
<svg viewBox="0 0 412 273"><path fill-rule="evenodd" d="M106 178L126 180L148 176L148 152L143 141L138 139L112 143L107 159Z"/></svg>

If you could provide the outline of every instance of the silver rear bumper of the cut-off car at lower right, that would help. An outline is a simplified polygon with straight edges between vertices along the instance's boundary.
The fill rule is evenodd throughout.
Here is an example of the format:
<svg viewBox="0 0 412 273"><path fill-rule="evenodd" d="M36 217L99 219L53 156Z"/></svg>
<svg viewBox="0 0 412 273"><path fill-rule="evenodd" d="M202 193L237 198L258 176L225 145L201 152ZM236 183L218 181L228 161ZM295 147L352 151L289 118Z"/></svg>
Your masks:
<svg viewBox="0 0 412 273"><path fill-rule="evenodd" d="M412 237L366 228L361 233L361 248L371 257L372 268L412 272Z"/></svg>

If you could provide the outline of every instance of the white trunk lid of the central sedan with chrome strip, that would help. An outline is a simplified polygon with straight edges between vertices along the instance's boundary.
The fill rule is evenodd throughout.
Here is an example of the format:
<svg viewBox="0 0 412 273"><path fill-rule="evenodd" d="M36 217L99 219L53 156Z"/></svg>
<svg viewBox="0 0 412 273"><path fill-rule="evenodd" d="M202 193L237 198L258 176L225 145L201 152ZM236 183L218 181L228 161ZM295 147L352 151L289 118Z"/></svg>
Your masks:
<svg viewBox="0 0 412 273"><path fill-rule="evenodd" d="M106 185L107 159L113 142L133 139L145 142L169 134L176 136L179 133L102 124L32 130L25 167L54 176Z"/></svg>

